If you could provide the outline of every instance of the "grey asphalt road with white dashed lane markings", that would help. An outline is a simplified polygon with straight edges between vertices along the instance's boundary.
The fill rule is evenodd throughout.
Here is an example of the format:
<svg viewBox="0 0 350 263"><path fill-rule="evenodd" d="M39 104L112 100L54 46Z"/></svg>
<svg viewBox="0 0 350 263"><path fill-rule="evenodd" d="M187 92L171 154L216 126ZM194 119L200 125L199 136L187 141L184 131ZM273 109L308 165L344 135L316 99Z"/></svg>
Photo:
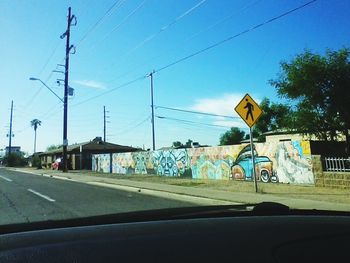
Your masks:
<svg viewBox="0 0 350 263"><path fill-rule="evenodd" d="M184 206L193 204L0 168L0 225Z"/></svg>

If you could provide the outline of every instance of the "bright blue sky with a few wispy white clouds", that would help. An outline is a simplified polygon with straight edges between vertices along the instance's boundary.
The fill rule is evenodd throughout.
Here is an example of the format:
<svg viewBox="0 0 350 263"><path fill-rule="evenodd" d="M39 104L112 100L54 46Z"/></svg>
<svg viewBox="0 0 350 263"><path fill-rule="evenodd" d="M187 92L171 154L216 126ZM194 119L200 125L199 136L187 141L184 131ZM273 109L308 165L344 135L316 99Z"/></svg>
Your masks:
<svg viewBox="0 0 350 263"><path fill-rule="evenodd" d="M33 151L30 120L42 121L37 150L62 143L62 103L58 73L64 62L69 6L78 24L72 27L68 140L102 136L103 106L109 111L107 140L150 148L150 82L146 76L182 57L249 29L308 1L304 0L109 0L0 2L0 147L8 144L11 100L14 101L13 145ZM114 4L108 15L107 10ZM257 101L280 101L268 80L279 63L304 49L349 47L350 1L318 0L286 17L239 36L207 52L154 74L155 105L237 116L234 107L245 93ZM95 27L94 25L103 17ZM156 146L187 139L217 145L230 126L246 129L239 119L205 117L156 109L156 115L214 127L156 118Z"/></svg>

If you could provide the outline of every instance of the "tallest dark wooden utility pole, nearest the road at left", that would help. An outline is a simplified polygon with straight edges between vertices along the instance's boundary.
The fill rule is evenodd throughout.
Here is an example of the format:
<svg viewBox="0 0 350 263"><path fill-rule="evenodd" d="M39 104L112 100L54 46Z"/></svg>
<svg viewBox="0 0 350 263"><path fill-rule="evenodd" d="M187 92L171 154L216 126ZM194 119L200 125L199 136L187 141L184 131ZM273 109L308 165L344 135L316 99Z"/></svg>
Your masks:
<svg viewBox="0 0 350 263"><path fill-rule="evenodd" d="M76 18L71 14L71 7L68 8L68 18L67 18L67 30L61 35L61 39L66 37L66 64L64 72L64 99L63 99L63 172L68 171L68 158L67 158L67 119L68 119L68 71L69 71L69 54L72 49L75 49L73 45L70 45L70 27L72 25L73 19L76 23ZM75 53L75 52L74 52ZM73 53L73 54L74 54Z"/></svg>

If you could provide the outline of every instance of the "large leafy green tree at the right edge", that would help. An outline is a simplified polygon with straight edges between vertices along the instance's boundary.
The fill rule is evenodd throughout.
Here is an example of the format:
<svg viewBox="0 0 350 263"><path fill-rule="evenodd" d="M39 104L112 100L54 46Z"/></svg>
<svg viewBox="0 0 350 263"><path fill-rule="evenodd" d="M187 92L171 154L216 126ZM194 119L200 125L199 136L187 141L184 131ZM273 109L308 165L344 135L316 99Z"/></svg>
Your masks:
<svg viewBox="0 0 350 263"><path fill-rule="evenodd" d="M333 140L350 129L350 50L327 50L325 55L305 51L281 62L281 73L270 84L295 104L292 128Z"/></svg>

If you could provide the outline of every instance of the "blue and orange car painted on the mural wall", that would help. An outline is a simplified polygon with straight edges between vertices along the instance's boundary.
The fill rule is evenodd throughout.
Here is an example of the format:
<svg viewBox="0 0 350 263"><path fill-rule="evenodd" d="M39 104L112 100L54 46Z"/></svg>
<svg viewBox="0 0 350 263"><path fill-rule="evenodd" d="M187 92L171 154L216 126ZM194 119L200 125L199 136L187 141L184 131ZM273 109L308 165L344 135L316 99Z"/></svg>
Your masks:
<svg viewBox="0 0 350 263"><path fill-rule="evenodd" d="M273 163L267 156L258 156L254 149L255 173L258 181L264 183L278 182L276 171L273 170ZM231 176L234 180L253 180L253 164L250 145L245 146L237 156L231 168Z"/></svg>

